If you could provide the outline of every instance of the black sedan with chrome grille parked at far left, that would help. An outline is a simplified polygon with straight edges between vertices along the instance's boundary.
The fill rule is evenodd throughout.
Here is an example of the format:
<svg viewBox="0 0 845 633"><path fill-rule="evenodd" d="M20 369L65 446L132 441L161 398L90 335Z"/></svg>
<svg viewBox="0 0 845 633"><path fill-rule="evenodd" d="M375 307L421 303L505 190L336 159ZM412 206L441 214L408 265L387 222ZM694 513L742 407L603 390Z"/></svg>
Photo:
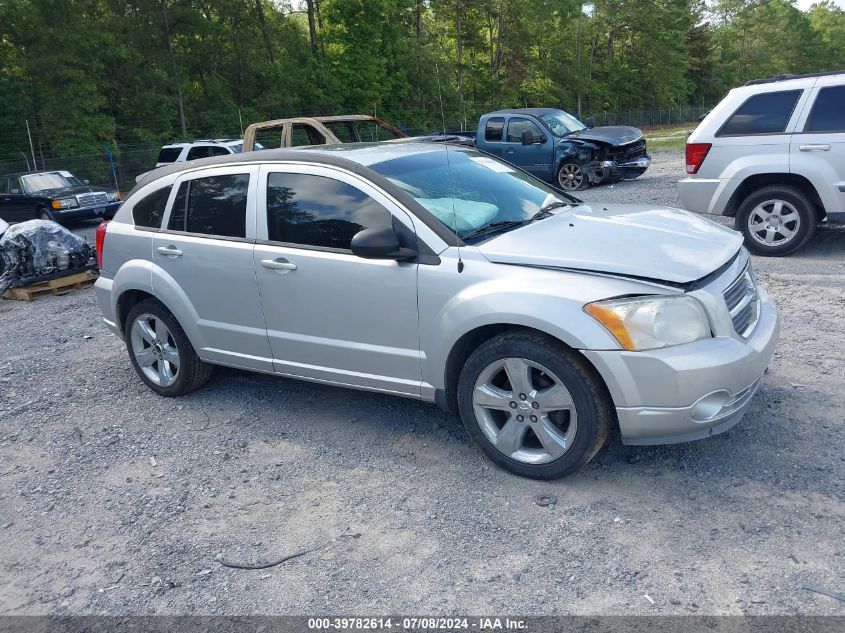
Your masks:
<svg viewBox="0 0 845 633"><path fill-rule="evenodd" d="M0 218L6 222L108 220L120 204L117 190L89 185L65 170L0 176Z"/></svg>

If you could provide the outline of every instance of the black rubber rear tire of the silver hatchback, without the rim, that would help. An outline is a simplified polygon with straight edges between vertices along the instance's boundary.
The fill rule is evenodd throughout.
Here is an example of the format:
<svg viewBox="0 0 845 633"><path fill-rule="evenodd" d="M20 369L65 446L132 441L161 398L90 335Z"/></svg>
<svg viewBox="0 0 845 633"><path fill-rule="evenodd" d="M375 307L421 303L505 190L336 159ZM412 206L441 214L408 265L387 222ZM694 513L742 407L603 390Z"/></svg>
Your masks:
<svg viewBox="0 0 845 633"><path fill-rule="evenodd" d="M135 321L135 318L140 314L152 314L157 319L164 321L173 340L176 343L176 349L179 352L180 364L179 374L176 377L176 382L167 387L162 387L150 381L141 371L138 366L138 361L135 359L135 354L132 353L132 339L130 337L129 328ZM157 394L167 397L183 396L190 393L194 389L199 389L211 378L214 371L214 365L204 363L199 359L194 351L193 345L188 340L185 330L179 325L179 321L171 314L170 310L155 299L146 299L136 304L129 314L126 315L126 321L123 327L124 338L126 339L126 351L129 353L129 360L132 362L132 367L141 381L147 385L152 391Z"/></svg>

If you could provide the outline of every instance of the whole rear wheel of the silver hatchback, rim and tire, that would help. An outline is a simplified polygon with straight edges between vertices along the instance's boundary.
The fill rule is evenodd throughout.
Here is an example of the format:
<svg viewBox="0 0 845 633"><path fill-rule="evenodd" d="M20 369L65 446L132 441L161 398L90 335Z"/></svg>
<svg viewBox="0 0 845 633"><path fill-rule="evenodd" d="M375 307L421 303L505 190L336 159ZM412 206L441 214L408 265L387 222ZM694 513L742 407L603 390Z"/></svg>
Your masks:
<svg viewBox="0 0 845 633"><path fill-rule="evenodd" d="M176 317L158 301L132 308L124 332L132 366L156 393L181 396L211 378L213 367L199 359Z"/></svg>

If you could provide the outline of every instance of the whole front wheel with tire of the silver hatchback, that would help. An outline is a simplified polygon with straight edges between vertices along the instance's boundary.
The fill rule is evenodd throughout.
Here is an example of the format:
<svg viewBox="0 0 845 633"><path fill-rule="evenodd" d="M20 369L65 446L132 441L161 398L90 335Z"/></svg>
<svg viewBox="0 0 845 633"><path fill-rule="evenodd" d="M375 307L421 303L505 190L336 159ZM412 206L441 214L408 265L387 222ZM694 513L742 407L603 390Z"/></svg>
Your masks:
<svg viewBox="0 0 845 633"><path fill-rule="evenodd" d="M586 364L530 332L502 334L473 352L461 371L458 406L487 457L534 479L563 477L590 461L613 415Z"/></svg>

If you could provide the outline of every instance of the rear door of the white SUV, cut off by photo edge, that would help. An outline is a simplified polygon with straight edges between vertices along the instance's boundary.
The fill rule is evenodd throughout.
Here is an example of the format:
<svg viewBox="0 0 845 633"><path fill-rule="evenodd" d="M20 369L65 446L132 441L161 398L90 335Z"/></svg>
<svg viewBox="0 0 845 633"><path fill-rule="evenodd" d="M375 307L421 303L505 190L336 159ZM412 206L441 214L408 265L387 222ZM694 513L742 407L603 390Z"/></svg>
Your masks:
<svg viewBox="0 0 845 633"><path fill-rule="evenodd" d="M845 80L819 77L790 146L792 172L809 180L828 217L845 222Z"/></svg>

